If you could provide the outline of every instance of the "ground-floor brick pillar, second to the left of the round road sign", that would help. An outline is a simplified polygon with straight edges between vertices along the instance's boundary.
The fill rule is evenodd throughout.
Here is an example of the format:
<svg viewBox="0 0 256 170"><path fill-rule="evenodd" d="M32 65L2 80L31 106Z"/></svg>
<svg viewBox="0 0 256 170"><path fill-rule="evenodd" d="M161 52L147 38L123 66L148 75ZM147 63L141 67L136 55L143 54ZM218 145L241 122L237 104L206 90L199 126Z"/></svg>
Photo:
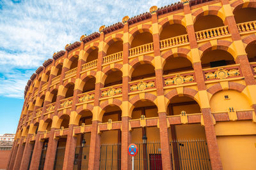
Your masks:
<svg viewBox="0 0 256 170"><path fill-rule="evenodd" d="M99 169L100 166L100 135L98 134L97 120L92 121L91 141L90 141L90 153L89 153L89 165L88 169Z"/></svg>

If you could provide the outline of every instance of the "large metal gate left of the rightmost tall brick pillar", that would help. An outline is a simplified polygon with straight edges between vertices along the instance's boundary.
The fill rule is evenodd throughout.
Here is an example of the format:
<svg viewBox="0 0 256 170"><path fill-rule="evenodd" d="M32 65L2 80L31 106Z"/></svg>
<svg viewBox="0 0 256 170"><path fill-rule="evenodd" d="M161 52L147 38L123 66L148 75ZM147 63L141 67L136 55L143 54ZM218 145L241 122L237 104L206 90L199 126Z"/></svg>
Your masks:
<svg viewBox="0 0 256 170"><path fill-rule="evenodd" d="M207 143L203 139L171 141L173 169L211 169Z"/></svg>

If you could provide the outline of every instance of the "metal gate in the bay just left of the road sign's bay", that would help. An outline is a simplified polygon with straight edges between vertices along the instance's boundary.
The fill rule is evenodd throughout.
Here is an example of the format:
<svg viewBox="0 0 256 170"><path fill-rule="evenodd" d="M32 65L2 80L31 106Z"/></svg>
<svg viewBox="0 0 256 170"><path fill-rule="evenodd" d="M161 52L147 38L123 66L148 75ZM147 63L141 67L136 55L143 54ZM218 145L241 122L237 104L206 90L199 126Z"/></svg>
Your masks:
<svg viewBox="0 0 256 170"><path fill-rule="evenodd" d="M100 169L121 169L121 144L100 145Z"/></svg>

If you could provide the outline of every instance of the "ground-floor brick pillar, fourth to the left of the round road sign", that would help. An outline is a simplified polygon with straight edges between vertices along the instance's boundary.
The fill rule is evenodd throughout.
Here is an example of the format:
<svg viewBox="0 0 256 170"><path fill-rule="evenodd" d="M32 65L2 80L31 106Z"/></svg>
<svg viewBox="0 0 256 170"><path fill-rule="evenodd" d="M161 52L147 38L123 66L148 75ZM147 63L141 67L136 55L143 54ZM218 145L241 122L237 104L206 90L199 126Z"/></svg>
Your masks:
<svg viewBox="0 0 256 170"><path fill-rule="evenodd" d="M56 149L58 146L58 140L54 139L54 131L56 129L52 128L50 133L50 138L48 142L48 147L45 156L44 170L52 170L54 167L54 160L56 155Z"/></svg>

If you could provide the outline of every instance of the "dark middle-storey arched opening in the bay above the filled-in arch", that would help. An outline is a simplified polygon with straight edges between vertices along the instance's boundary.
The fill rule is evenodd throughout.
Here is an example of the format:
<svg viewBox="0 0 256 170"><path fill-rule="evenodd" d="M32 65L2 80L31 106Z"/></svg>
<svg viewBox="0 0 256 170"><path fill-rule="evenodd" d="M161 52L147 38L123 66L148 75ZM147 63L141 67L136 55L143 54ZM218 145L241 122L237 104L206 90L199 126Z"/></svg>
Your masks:
<svg viewBox="0 0 256 170"><path fill-rule="evenodd" d="M219 67L236 64L234 57L225 50L209 50L202 55L202 67Z"/></svg>

